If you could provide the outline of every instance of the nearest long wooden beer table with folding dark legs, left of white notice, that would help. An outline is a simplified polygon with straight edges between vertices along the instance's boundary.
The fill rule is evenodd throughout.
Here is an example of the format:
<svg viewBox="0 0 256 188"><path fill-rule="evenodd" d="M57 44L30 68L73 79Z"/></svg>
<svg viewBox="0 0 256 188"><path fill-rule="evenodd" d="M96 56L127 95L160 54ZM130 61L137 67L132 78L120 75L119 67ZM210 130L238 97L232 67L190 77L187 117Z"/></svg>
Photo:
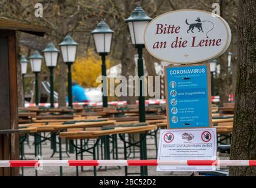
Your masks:
<svg viewBox="0 0 256 188"><path fill-rule="evenodd" d="M76 159L78 159L78 155L81 154L83 156L84 152L92 153L93 154L93 159L96 159L96 146L98 145L100 141L100 137L105 136L106 140L107 137L111 136L116 136L119 135L120 139L123 141L124 144L124 159L127 159L127 148L132 147L132 146L137 146L140 147L140 156L142 159L145 159L147 156L147 149L146 149L146 142L143 142L143 140L146 139L146 132L152 131L156 129L156 125L147 125L147 123L138 123L137 125L131 125L130 127L108 127L109 129L104 130L104 127L101 130L93 130L93 131L70 131L70 132L61 132L60 137L63 137L65 139L69 139L71 141L71 144L76 148ZM131 134L131 133L142 133L143 134L143 139L139 140L137 142L128 142L125 139L125 134ZM94 145L92 147L89 147L85 149L83 147L82 141L84 139L96 139L96 142L94 142ZM76 140L76 142L74 142ZM80 147L77 145L77 140L80 140L81 144ZM108 141L107 141L108 142ZM113 142L115 143L115 142ZM144 143L144 144L143 144ZM116 143L117 144L117 143ZM106 145L109 145L109 143L106 143ZM127 146L128 145L128 146ZM116 145L117 146L117 145ZM113 146L116 149L116 154L117 154L117 147ZM109 147L106 147L106 149L109 149ZM79 150L79 151L78 151ZM93 151L91 151L93 150ZM110 151L106 151L107 154L109 154ZM98 152L99 155L99 152ZM110 159L109 156L104 156L105 159ZM99 156L97 157L99 159ZM117 156L116 156L116 159ZM76 167L76 172L78 176L78 167ZM127 171L127 166L124 167L124 172L125 175L127 174L137 174L137 173L128 173ZM140 170L140 175L143 176L147 174L147 169L141 168ZM94 176L97 176L97 170L96 167L94 166Z"/></svg>

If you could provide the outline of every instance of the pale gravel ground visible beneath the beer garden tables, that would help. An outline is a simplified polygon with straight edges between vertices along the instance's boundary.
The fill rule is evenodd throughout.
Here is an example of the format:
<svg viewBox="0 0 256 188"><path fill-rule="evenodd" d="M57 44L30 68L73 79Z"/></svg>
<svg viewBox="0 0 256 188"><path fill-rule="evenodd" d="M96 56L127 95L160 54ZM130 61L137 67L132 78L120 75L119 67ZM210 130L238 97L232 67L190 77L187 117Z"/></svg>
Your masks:
<svg viewBox="0 0 256 188"><path fill-rule="evenodd" d="M27 160L34 159L34 136L29 136L29 145L25 143L25 157ZM153 137L147 136L147 158L148 159L156 159L156 148L154 144ZM88 145L91 146L93 144L93 140L90 140ZM110 143L111 147L111 143ZM119 151L119 159L123 159L123 142L118 139L118 151ZM63 151L65 151L65 144L62 145ZM129 151L128 151L129 152ZM42 143L42 159L44 160L58 160L58 153L55 153L53 157L52 149L50 148L50 141ZM69 157L68 157L69 155ZM76 159L76 156L72 153L63 153L63 160L72 160ZM80 157L80 156L79 156ZM111 155L112 157L112 155ZM80 159L80 158L78 158ZM93 156L90 153L84 153L83 159L93 159ZM112 158L111 158L112 159ZM139 159L139 148L135 149L135 158L133 157L133 152L130 154L129 159ZM228 159L227 156L221 157L221 159ZM124 167L97 167L97 176L124 176ZM20 169L21 172L21 169ZM43 167L42 170L37 170L38 176L59 176L60 175L60 167ZM139 173L140 167L130 166L128 167L128 173ZM157 172L156 166L148 167L148 175L149 176L189 176L191 172ZM34 167L24 167L24 176L35 176ZM63 176L76 176L76 167L63 167ZM83 167L83 171L81 172L81 167L79 167L79 176L93 176L93 167ZM132 176L132 175L129 175ZM139 174L138 174L139 176Z"/></svg>

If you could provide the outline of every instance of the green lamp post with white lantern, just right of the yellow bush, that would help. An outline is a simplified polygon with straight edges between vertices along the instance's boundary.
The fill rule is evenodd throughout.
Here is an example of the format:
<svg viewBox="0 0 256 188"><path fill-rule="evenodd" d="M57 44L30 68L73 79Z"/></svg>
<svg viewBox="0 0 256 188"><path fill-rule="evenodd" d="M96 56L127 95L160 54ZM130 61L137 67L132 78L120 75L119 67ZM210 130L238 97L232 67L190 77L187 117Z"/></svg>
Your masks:
<svg viewBox="0 0 256 188"><path fill-rule="evenodd" d="M94 39L94 45L96 52L101 56L101 75L104 76L103 80L103 95L102 102L103 108L107 107L107 73L106 73L106 56L111 49L111 39L113 36L113 31L109 29L109 26L101 19L100 23L91 32Z"/></svg>

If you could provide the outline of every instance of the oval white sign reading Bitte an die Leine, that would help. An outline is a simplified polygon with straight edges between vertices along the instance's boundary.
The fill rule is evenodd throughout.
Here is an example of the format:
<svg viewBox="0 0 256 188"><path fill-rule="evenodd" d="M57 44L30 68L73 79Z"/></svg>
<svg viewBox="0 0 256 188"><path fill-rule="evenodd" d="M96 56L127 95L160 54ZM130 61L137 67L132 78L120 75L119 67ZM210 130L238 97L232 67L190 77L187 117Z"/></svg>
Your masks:
<svg viewBox="0 0 256 188"><path fill-rule="evenodd" d="M144 33L147 51L166 62L188 64L214 59L231 42L224 19L211 12L179 10L153 19Z"/></svg>

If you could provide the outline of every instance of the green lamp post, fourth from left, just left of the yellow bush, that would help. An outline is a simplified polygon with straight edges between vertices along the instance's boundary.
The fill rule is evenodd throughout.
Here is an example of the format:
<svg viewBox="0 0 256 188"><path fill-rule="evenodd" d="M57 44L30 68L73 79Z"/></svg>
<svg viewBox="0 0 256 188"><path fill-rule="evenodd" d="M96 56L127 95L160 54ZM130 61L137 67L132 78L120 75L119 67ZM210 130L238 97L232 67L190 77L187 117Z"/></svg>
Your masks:
<svg viewBox="0 0 256 188"><path fill-rule="evenodd" d="M76 61L78 43L76 43L70 35L67 35L59 46L63 62L68 66L68 106L73 108L71 65Z"/></svg>

